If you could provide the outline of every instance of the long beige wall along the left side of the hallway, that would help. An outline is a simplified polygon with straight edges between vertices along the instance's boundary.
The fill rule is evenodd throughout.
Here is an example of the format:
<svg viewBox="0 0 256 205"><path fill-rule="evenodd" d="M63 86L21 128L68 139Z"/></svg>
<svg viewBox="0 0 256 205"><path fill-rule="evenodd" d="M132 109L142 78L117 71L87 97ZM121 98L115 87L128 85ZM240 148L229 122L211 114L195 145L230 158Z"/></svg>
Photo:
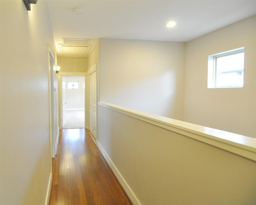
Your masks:
<svg viewBox="0 0 256 205"><path fill-rule="evenodd" d="M0 1L0 204L42 205L51 173L45 1Z"/></svg>

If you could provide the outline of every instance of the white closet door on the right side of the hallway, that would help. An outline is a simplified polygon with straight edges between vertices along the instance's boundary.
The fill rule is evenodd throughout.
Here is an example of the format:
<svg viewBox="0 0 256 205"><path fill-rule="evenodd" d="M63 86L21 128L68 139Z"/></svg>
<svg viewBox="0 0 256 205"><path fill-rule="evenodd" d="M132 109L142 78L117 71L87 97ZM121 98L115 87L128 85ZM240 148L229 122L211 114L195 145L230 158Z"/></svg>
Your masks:
<svg viewBox="0 0 256 205"><path fill-rule="evenodd" d="M96 137L96 71L89 75L89 89L90 89L90 121L89 121L89 130Z"/></svg>

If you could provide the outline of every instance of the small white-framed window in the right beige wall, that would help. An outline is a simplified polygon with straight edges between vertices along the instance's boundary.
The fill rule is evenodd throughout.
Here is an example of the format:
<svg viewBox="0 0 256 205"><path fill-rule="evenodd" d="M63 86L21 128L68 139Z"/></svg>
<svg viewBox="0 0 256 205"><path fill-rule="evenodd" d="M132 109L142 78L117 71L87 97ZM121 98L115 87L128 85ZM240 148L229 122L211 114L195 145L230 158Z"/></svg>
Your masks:
<svg viewBox="0 0 256 205"><path fill-rule="evenodd" d="M208 56L208 88L244 86L244 47Z"/></svg>

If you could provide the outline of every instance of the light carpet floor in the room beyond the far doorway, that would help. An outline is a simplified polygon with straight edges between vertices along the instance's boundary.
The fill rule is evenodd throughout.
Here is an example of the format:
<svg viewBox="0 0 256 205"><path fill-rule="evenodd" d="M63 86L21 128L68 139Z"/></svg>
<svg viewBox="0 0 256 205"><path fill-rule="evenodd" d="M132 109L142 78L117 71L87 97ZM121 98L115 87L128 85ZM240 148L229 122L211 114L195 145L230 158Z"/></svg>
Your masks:
<svg viewBox="0 0 256 205"><path fill-rule="evenodd" d="M63 129L84 128L84 110L66 110L66 124Z"/></svg>

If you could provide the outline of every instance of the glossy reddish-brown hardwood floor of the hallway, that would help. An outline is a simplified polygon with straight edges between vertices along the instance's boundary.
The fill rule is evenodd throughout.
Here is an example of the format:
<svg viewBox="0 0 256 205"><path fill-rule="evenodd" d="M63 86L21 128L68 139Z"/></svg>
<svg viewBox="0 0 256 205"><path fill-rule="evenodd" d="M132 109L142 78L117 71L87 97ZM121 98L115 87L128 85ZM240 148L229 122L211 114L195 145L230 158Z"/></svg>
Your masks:
<svg viewBox="0 0 256 205"><path fill-rule="evenodd" d="M131 205L88 130L60 131L49 205Z"/></svg>

